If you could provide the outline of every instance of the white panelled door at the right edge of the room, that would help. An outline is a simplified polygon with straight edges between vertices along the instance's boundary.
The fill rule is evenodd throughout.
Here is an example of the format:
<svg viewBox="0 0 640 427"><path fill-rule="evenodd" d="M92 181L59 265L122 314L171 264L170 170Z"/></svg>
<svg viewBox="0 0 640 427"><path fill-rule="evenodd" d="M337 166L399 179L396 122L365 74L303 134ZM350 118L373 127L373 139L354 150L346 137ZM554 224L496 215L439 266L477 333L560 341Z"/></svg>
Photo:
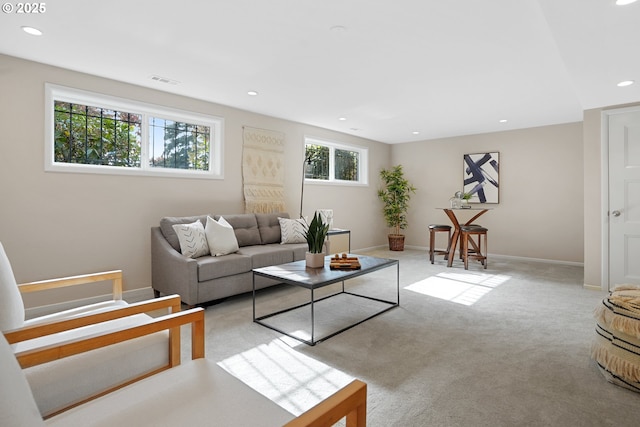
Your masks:
<svg viewBox="0 0 640 427"><path fill-rule="evenodd" d="M609 289L640 284L640 110L609 115Z"/></svg>

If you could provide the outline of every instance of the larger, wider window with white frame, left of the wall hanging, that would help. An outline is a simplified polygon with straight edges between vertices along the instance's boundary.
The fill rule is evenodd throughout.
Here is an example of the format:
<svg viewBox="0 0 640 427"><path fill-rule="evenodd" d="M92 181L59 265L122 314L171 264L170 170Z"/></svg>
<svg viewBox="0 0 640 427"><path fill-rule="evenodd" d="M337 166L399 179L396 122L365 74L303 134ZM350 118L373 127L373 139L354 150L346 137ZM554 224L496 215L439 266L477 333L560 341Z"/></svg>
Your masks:
<svg viewBox="0 0 640 427"><path fill-rule="evenodd" d="M223 120L47 85L48 171L222 178Z"/></svg>

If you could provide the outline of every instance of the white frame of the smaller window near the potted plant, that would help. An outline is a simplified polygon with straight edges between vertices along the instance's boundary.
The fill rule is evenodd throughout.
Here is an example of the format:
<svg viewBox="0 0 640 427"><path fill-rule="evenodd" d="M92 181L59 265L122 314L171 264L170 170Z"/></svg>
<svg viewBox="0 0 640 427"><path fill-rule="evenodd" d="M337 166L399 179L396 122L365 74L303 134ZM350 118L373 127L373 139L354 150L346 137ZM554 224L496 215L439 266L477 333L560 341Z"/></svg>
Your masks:
<svg viewBox="0 0 640 427"><path fill-rule="evenodd" d="M330 184L330 185L348 185L348 186L368 186L369 185L369 149L360 145L345 144L341 142L328 141L326 139L316 138L313 136L304 137L304 149L302 150L303 168L306 161L307 145L321 145L329 148L329 179L313 179L307 178L304 169L303 176L305 184ZM358 161L358 180L347 181L336 179L335 177L335 150L354 151L359 154Z"/></svg>

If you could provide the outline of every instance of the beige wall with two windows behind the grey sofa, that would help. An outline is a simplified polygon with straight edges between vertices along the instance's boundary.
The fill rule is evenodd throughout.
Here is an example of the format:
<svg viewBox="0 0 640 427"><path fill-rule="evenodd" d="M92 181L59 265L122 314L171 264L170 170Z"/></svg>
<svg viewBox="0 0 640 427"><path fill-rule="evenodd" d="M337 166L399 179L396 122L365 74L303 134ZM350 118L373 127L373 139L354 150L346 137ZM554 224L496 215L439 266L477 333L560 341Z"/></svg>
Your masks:
<svg viewBox="0 0 640 427"><path fill-rule="evenodd" d="M0 77L0 242L19 282L122 269L125 290L150 286L150 228L161 217L243 212L245 125L286 134L286 203L293 217L300 209L304 135L369 147L372 185L310 185L304 210L334 209L335 226L352 230L352 248L384 244L375 183L376 171L389 162L386 144L8 56L0 55ZM45 82L224 117L225 179L45 173ZM45 298L27 305L51 301Z"/></svg>

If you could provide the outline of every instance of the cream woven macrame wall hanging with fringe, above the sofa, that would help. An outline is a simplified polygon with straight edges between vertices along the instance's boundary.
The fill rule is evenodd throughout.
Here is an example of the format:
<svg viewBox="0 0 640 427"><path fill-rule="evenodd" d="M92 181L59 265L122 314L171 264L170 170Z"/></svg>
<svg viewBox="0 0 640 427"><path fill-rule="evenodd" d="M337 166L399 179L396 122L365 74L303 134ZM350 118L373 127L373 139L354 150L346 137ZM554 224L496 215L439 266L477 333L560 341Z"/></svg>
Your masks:
<svg viewBox="0 0 640 427"><path fill-rule="evenodd" d="M284 133L244 126L242 141L245 213L285 212Z"/></svg>

